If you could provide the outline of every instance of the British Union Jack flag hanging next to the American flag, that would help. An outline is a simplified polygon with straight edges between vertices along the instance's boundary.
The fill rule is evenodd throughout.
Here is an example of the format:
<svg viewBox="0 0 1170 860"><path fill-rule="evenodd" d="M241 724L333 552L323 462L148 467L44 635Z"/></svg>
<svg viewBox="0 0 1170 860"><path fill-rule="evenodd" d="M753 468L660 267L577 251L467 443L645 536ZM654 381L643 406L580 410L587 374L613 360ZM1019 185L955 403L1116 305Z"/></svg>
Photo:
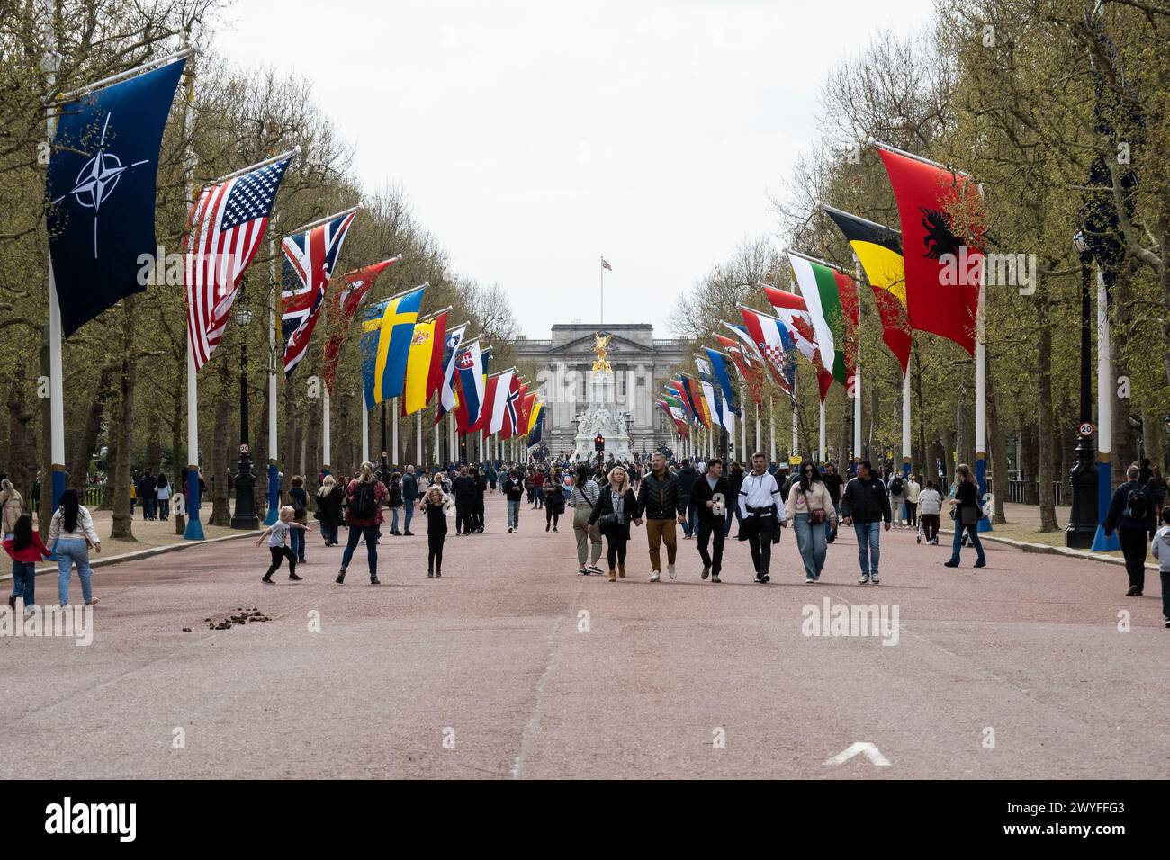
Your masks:
<svg viewBox="0 0 1170 860"><path fill-rule="evenodd" d="M309 339L325 303L342 243L356 213L330 219L312 229L285 236L281 242L281 335L284 339L284 376L289 377L309 351Z"/></svg>

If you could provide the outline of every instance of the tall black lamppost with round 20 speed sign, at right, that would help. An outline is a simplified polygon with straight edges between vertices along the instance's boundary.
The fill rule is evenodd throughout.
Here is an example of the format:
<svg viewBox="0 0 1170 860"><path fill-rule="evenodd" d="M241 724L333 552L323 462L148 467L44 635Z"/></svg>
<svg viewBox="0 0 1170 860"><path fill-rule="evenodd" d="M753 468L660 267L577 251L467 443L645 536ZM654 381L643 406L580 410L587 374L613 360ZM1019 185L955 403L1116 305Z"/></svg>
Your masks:
<svg viewBox="0 0 1170 860"><path fill-rule="evenodd" d="M1097 469L1093 450L1093 340L1089 329L1092 312L1093 253L1085 235L1078 231L1073 235L1073 247L1081 256L1081 397L1080 427L1076 443L1076 465L1071 469L1073 483L1073 509L1065 529L1065 545L1087 550L1093 546L1097 529ZM1031 481L1032 476L1026 475Z"/></svg>

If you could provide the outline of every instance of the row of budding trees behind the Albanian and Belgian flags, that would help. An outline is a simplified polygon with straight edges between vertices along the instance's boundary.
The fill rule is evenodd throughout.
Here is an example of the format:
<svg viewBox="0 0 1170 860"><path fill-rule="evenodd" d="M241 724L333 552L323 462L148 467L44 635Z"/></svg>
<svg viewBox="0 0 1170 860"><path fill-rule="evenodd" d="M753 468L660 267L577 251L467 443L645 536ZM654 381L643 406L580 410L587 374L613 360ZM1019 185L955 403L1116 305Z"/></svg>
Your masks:
<svg viewBox="0 0 1170 860"><path fill-rule="evenodd" d="M1087 215L1117 213L1112 290L1113 473L1140 456L1165 462L1170 414L1170 5L1158 0L937 0L934 27L876 36L820 91L819 137L773 200L780 245L854 270L820 204L897 227L873 137L971 173L983 185L986 249L1032 254L1034 284L986 294L987 440L997 488L1013 465L1058 528L1053 483L1075 462L1081 260ZM1090 167L1099 170L1090 181ZM1096 209L1094 208L1096 207ZM745 240L684 296L675 328L710 339L735 303L766 310L760 281L791 288L769 238ZM914 249L908 249L914 253ZM1095 281L1094 281L1095 294ZM881 344L861 290L863 439L901 454L901 369ZM1095 328L1094 328L1095 331ZM815 383L801 362L800 425L814 433ZM910 360L915 465L973 456L975 372L957 345L915 333ZM852 404L827 401L831 440L847 455ZM803 436L803 438L808 438ZM814 450L813 445L805 450ZM880 440L880 445L878 445ZM879 452L881 452L879 454ZM1018 452L1018 455L1017 455ZM869 453L868 450L866 453ZM948 468L948 474L950 468ZM1039 479L1038 483L1033 483ZM1003 518L1005 494L997 494Z"/></svg>

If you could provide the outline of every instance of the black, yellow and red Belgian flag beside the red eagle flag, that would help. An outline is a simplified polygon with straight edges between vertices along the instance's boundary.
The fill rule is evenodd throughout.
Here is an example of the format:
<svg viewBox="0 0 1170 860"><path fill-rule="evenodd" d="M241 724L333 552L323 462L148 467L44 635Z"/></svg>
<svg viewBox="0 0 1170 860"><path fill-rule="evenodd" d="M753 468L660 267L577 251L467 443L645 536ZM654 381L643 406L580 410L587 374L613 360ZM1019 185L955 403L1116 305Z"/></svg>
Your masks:
<svg viewBox="0 0 1170 860"><path fill-rule="evenodd" d="M882 342L902 365L910 366L910 317L906 310L906 266L902 261L902 234L848 212L821 207L833 219L866 271L878 301Z"/></svg>

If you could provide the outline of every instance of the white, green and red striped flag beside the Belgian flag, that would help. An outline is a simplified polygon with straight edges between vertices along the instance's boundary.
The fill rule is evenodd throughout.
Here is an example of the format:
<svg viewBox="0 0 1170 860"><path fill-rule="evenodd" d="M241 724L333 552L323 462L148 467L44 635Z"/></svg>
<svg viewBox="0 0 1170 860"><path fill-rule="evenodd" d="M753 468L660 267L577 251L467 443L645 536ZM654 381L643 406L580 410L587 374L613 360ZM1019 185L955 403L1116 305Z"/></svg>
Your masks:
<svg viewBox="0 0 1170 860"><path fill-rule="evenodd" d="M808 308L821 364L848 385L858 338L858 288L853 278L824 263L789 252L800 295Z"/></svg>

